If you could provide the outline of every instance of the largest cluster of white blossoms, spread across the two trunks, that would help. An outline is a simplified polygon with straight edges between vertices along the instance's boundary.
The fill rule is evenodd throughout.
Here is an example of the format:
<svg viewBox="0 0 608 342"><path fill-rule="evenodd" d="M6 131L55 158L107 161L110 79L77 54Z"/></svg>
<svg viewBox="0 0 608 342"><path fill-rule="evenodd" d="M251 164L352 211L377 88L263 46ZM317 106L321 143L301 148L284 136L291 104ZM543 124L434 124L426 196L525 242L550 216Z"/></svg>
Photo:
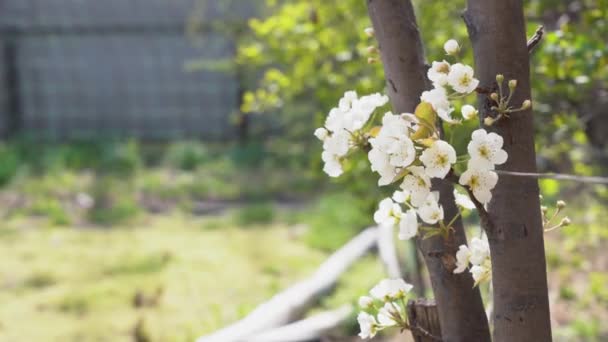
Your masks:
<svg viewBox="0 0 608 342"><path fill-rule="evenodd" d="M444 49L447 55L453 56L460 47L450 40ZM399 227L399 238L404 240L418 235L419 219L444 231L449 230L456 219L448 218L449 223L444 222L439 193L431 191L433 178L446 178L457 162L469 159L459 183L467 187L480 204L487 204L498 181L494 168L507 160L502 137L484 129L471 135L468 155L458 156L454 147L442 140L438 117L456 125L477 116L477 110L471 105L461 107L461 119L452 116L452 100L473 93L479 85L473 68L462 63L435 61L427 76L434 88L422 93L414 113L386 112L381 125L373 126L372 114L388 102L388 97L377 93L358 97L354 91L348 91L338 107L329 112L324 126L315 131L315 136L323 141L323 170L331 177L340 176L346 156L360 148L368 152L371 170L380 176L379 186L398 183L400 189L380 202L374 220L379 225ZM455 193L455 198L463 209L475 207L464 195Z"/></svg>

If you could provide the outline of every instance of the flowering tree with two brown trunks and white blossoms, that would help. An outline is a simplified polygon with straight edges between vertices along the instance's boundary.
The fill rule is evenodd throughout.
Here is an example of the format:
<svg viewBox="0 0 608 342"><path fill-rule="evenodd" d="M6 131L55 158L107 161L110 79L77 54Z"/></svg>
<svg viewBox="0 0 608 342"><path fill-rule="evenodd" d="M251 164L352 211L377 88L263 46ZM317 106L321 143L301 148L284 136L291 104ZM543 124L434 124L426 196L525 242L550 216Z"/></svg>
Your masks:
<svg viewBox="0 0 608 342"><path fill-rule="evenodd" d="M368 9L374 28L367 33L378 42L369 51L380 52L388 96L344 94L315 131L323 142L324 171L339 177L353 153L366 153L378 185L394 188L374 220L397 227L402 240L417 240L439 310L441 336L434 337L490 340L475 286L493 280L494 339L550 341L538 185L508 173L535 171L521 1L468 1L464 17L477 74L458 60L454 40L444 45L445 60L425 66L409 1L368 0ZM479 110L467 103L474 93ZM389 99L396 114L384 109ZM458 129L478 117L481 128ZM469 142L466 151L457 151L450 141L462 134ZM460 216L473 209L485 234L466 244ZM360 336L391 326L421 329L405 315L410 289L389 279L362 297Z"/></svg>

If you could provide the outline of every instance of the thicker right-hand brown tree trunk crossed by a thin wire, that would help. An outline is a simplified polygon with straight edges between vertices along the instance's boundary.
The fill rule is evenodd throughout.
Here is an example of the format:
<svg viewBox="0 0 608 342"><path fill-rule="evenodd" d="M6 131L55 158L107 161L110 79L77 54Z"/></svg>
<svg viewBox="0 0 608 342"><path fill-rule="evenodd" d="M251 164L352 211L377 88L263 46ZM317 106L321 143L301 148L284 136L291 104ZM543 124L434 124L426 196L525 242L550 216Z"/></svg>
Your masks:
<svg viewBox="0 0 608 342"><path fill-rule="evenodd" d="M518 82L514 107L530 98L530 71L521 0L468 0L464 14L480 87L494 89L496 74ZM505 87L506 88L506 87ZM479 96L482 123L490 111ZM501 170L535 172L532 111L513 113L488 130L509 153ZM547 273L538 183L501 175L489 204L488 234L494 286L494 341L551 341Z"/></svg>

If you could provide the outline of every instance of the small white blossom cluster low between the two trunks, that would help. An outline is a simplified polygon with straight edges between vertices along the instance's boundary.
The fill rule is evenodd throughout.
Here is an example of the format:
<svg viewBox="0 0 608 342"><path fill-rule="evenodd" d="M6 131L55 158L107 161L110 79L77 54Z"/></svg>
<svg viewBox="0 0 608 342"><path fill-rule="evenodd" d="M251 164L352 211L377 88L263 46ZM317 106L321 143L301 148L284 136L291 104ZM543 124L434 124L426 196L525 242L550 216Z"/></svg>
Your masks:
<svg viewBox="0 0 608 342"><path fill-rule="evenodd" d="M470 267L469 267L470 264ZM461 245L456 252L456 269L454 273L462 273L469 268L475 285L492 279L492 262L490 261L490 245L484 235L474 237L470 247Z"/></svg>

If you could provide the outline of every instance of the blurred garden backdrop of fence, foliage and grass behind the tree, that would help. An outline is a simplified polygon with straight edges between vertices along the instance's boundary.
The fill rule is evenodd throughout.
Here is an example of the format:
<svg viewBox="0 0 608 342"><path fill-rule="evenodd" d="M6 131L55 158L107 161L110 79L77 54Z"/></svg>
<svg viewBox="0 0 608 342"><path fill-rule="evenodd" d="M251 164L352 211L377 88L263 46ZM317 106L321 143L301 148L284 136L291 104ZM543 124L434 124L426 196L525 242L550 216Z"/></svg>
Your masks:
<svg viewBox="0 0 608 342"><path fill-rule="evenodd" d="M414 3L427 58L456 38L472 63L464 1ZM608 1L530 0L526 15L530 36L546 30L539 169L605 176ZM370 226L386 193L368 164L330 181L312 135L344 91L384 89L368 26L361 0L2 1L0 341L192 341ZM541 189L573 221L546 235L555 339L607 340L608 189ZM384 277L367 255L307 314Z"/></svg>

